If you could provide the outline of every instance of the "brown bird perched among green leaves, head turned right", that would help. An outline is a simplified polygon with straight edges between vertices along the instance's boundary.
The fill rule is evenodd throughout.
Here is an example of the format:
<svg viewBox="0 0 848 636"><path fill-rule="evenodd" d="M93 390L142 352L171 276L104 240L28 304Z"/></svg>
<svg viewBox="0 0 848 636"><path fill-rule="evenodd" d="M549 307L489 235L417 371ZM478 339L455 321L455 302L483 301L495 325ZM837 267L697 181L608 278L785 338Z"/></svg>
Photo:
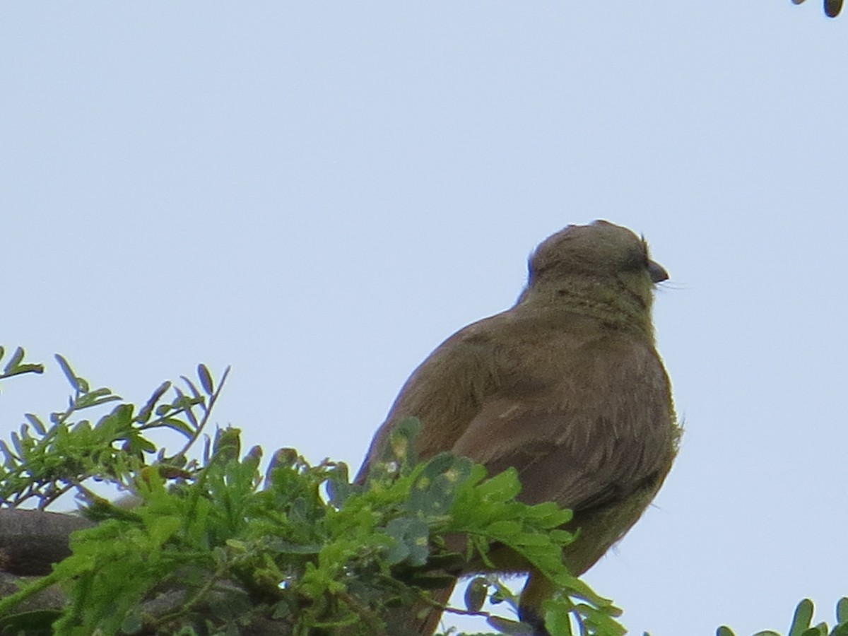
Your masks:
<svg viewBox="0 0 848 636"><path fill-rule="evenodd" d="M677 451L671 389L654 344L651 304L667 272L643 239L596 220L541 243L515 306L442 343L400 390L371 442L358 480L382 456L392 427L416 416L416 450L514 466L527 504L574 511L581 533L563 554L572 574L589 569L633 526L660 488ZM550 583L517 555L497 569L529 572L523 621L544 636L539 608ZM457 575L471 572L456 572ZM451 589L434 598L446 602ZM407 612L392 633L430 634Z"/></svg>

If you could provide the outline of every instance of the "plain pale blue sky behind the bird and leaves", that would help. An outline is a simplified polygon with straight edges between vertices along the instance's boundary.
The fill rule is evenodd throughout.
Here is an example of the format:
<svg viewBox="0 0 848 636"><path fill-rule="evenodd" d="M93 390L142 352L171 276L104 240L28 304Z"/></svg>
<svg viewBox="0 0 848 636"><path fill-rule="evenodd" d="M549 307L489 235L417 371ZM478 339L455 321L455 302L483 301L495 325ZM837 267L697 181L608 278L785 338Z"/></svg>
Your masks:
<svg viewBox="0 0 848 636"><path fill-rule="evenodd" d="M6 3L0 343L354 467L568 223L644 232L686 425L587 579L632 633L845 588L848 16L745 2ZM0 433L64 404L7 382ZM459 624L459 623L458 623ZM467 623L461 623L468 625Z"/></svg>

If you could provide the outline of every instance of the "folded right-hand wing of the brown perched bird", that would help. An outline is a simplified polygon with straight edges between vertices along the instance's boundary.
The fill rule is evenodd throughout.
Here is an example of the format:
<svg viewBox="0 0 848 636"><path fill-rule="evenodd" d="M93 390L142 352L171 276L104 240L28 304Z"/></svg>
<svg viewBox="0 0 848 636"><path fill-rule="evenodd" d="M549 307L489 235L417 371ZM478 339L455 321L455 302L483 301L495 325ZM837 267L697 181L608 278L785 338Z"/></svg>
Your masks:
<svg viewBox="0 0 848 636"><path fill-rule="evenodd" d="M576 511L626 499L664 474L674 428L661 362L642 343L603 340L574 347L573 338L554 339L550 354L570 358L545 366L559 377L525 379L518 390L505 382L452 452L493 475L515 467L527 503L553 500ZM517 373L532 377L533 369Z"/></svg>

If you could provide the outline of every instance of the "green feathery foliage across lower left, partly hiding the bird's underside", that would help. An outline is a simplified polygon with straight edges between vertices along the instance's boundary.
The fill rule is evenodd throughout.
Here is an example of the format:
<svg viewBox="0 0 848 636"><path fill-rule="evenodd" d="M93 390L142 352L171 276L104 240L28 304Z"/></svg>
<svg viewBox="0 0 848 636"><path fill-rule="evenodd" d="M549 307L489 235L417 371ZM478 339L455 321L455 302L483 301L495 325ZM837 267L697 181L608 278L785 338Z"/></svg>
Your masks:
<svg viewBox="0 0 848 636"><path fill-rule="evenodd" d="M22 358L21 358L22 359ZM40 508L75 489L85 514L100 523L72 535L73 554L47 577L0 600L0 628L26 633L40 626L63 634L92 633L386 633L388 608L433 603L427 589L449 580L443 568L485 559L497 541L524 555L555 580L562 594L547 608L560 616L554 636L622 634L618 611L561 565L574 540L558 529L570 512L554 504L515 501L515 471L487 478L482 466L452 455L417 463L410 453L417 421L405 421L369 483L350 483L343 463L310 466L281 449L263 477L261 450L240 457L237 429L215 433L200 460L187 460L215 399L211 374L183 378L184 393L164 400L166 382L140 409L108 388L91 389L57 356L74 394L48 427L32 414L0 446L0 496ZM18 360L20 364L20 360ZM226 373L225 373L226 377ZM223 378L222 378L223 380ZM113 408L95 423L81 411ZM188 443L174 454L156 449L148 432L170 428ZM129 489L131 510L92 494L92 479ZM444 537L464 533L466 550L452 553ZM47 585L66 594L64 611L14 614L14 606ZM481 611L486 595L515 605L496 578L471 582L465 614ZM494 618L505 633L526 630ZM35 626L35 627L33 627ZM257 631L259 630L259 631Z"/></svg>

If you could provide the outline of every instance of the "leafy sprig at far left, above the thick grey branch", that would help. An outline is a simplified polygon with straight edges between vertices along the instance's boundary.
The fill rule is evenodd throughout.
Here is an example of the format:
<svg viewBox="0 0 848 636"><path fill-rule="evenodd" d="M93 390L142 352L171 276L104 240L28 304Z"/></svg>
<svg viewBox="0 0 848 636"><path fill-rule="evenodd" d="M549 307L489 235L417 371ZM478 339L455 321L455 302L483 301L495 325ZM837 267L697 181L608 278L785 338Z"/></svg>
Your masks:
<svg viewBox="0 0 848 636"><path fill-rule="evenodd" d="M0 354L2 351L0 348ZM23 364L23 357L19 348L0 377L43 371L42 365ZM131 489L131 477L153 463L171 474L192 469L186 451L198 440L220 392L204 365L198 366L198 380L182 378L185 391L164 382L137 408L109 388L92 388L61 355L56 360L73 393L67 407L51 413L47 421L26 413L25 423L11 433L9 443L0 440L2 505L17 507L35 500L43 510L71 490L93 497L86 485L92 480ZM226 372L221 384L224 379ZM171 397L165 399L169 390ZM114 402L120 404L97 419L88 415L102 412L100 407ZM149 438L157 429L180 433L185 445L173 455L166 456L164 449L157 455L158 447Z"/></svg>

